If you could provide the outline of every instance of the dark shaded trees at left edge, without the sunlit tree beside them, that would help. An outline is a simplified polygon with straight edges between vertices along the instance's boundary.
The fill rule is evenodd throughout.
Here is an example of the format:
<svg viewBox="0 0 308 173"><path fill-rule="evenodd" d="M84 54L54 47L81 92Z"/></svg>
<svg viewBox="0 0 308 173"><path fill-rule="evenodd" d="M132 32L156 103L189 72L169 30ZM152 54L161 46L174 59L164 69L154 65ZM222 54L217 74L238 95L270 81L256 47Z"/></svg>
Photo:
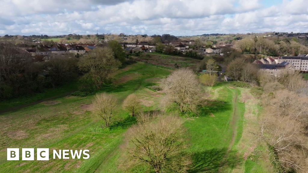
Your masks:
<svg viewBox="0 0 308 173"><path fill-rule="evenodd" d="M0 46L0 99L41 92L78 76L77 60L54 56L48 62L33 58L9 43Z"/></svg>

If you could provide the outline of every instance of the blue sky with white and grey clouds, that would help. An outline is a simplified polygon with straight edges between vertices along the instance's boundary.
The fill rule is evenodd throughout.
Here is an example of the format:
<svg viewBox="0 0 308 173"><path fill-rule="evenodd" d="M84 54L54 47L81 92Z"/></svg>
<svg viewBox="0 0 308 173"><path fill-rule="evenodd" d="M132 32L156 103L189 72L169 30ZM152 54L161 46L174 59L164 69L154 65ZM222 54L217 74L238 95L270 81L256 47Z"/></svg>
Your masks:
<svg viewBox="0 0 308 173"><path fill-rule="evenodd" d="M0 35L308 32L308 0L0 0Z"/></svg>

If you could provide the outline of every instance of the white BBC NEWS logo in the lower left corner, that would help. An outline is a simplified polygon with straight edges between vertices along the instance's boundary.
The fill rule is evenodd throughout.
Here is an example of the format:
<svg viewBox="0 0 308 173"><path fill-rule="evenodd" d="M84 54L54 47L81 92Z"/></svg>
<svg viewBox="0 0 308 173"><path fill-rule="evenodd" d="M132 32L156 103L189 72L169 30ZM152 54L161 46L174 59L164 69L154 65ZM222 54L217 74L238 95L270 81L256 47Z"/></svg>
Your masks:
<svg viewBox="0 0 308 173"><path fill-rule="evenodd" d="M53 159L89 159L89 150L53 150ZM22 160L34 160L34 148L22 148ZM82 157L81 157L82 156ZM7 160L19 160L19 148L7 148ZM49 160L49 148L37 148L36 160Z"/></svg>

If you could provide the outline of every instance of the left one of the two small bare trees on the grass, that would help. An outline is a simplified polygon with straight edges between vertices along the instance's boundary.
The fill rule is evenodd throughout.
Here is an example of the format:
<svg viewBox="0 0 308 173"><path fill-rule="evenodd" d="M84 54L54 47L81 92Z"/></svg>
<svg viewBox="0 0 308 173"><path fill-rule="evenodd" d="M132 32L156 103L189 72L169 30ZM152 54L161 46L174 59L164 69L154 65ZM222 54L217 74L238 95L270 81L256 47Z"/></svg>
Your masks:
<svg viewBox="0 0 308 173"><path fill-rule="evenodd" d="M114 95L100 93L95 95L93 102L94 112L105 121L105 126L109 127L117 114L117 99Z"/></svg>

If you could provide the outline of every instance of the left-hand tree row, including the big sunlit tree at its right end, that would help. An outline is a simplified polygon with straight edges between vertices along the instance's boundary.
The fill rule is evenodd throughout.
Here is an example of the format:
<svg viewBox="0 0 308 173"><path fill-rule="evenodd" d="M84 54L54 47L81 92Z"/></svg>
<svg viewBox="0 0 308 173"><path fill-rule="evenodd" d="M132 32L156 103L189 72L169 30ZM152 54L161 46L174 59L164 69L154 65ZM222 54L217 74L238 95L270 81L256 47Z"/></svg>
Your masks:
<svg viewBox="0 0 308 173"><path fill-rule="evenodd" d="M52 55L48 61L43 58L32 57L11 43L2 43L0 99L42 92L72 82L79 75L82 90L97 90L125 63L126 54L118 42L111 41L80 58L71 54Z"/></svg>

